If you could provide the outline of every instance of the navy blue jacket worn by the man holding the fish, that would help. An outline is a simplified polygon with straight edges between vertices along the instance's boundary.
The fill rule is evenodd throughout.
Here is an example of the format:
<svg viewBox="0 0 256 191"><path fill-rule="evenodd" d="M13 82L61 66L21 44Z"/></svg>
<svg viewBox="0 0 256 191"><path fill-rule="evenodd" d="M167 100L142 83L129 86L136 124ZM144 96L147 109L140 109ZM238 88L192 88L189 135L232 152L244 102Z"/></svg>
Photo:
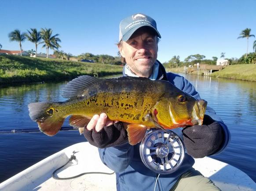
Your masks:
<svg viewBox="0 0 256 191"><path fill-rule="evenodd" d="M159 63L160 64L160 63ZM125 76L125 74L124 74ZM168 80L183 92L200 99L199 94L196 92L194 86L187 81L184 77L166 73L165 68L160 64L157 79ZM215 111L207 107L205 114L212 117L212 119L219 122L223 127L224 137L221 148L214 153L214 155L223 151L230 141L230 133L227 126L223 123ZM172 129L180 138L183 138L183 128ZM102 162L110 169L116 172L117 177L117 191L145 191L154 190L154 185L157 179L157 173L149 170L142 162L139 155L139 145L130 145L128 142L115 147L99 149L99 156ZM156 191L170 190L179 177L190 170L194 164L192 156L185 154L182 165L174 173L168 175L160 175L157 180Z"/></svg>

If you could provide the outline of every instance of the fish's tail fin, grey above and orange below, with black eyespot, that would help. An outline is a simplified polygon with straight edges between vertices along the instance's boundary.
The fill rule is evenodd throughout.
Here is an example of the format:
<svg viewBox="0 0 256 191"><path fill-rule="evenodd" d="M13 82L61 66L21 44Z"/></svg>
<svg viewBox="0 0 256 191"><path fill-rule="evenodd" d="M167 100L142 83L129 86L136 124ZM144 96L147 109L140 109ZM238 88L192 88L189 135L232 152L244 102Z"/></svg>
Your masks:
<svg viewBox="0 0 256 191"><path fill-rule="evenodd" d="M48 136L53 136L59 132L65 117L59 116L55 109L56 103L37 102L30 103L29 117L36 121L40 131Z"/></svg>

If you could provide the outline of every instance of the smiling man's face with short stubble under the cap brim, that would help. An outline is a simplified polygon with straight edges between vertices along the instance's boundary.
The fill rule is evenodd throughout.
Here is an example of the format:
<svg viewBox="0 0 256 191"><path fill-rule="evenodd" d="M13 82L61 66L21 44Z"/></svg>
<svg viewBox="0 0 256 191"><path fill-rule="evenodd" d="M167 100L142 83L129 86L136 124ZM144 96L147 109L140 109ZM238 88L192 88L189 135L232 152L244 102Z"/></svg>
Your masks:
<svg viewBox="0 0 256 191"><path fill-rule="evenodd" d="M128 67L140 77L150 77L157 60L157 36L147 28L139 28L126 42L118 46Z"/></svg>

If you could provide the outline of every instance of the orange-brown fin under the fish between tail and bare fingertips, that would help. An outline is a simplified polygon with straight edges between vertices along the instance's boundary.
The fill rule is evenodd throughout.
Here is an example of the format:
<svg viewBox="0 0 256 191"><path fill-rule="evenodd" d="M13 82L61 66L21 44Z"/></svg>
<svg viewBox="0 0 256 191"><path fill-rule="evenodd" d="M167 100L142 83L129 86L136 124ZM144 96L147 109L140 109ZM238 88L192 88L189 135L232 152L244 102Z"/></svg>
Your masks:
<svg viewBox="0 0 256 191"><path fill-rule="evenodd" d="M69 125L72 127L79 128L80 134L84 132L84 127L87 126L91 117L83 116L83 115L72 115L69 118Z"/></svg>

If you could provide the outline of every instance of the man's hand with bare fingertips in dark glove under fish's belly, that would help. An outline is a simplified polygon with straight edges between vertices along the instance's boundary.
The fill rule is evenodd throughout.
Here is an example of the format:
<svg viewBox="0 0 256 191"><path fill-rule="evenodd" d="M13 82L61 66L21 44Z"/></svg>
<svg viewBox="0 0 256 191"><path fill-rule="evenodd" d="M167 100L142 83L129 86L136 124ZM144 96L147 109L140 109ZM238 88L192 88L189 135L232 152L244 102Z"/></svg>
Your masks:
<svg viewBox="0 0 256 191"><path fill-rule="evenodd" d="M84 137L98 148L116 146L128 141L123 123L109 120L106 113L91 118L87 127L84 127Z"/></svg>

